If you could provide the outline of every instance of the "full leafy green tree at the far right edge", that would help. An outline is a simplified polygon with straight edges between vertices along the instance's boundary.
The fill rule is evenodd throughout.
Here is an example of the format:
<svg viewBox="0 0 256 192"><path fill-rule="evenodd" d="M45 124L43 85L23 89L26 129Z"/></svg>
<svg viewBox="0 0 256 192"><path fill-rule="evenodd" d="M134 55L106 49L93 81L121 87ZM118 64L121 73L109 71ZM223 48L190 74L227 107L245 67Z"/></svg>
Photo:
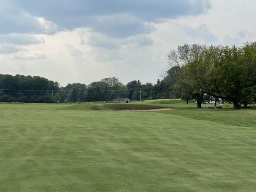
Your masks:
<svg viewBox="0 0 256 192"><path fill-rule="evenodd" d="M189 78L208 95L233 103L234 109L253 102L256 84L256 45L204 48L202 60L188 63Z"/></svg>

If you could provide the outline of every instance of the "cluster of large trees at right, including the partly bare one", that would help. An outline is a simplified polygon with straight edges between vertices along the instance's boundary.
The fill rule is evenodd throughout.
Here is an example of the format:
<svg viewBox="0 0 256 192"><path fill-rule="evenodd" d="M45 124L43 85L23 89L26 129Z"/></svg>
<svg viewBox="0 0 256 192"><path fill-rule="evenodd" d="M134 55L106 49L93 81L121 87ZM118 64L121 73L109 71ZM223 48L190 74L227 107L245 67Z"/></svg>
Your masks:
<svg viewBox="0 0 256 192"><path fill-rule="evenodd" d="M256 42L237 46L179 46L168 54L164 81L187 102L232 102L234 109L256 102Z"/></svg>

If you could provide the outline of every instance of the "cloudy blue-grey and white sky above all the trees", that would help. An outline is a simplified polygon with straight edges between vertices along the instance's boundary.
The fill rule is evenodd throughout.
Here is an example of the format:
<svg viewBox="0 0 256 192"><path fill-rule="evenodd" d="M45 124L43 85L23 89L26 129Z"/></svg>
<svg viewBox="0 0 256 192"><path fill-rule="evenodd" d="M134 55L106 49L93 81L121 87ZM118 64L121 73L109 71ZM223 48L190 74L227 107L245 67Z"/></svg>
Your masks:
<svg viewBox="0 0 256 192"><path fill-rule="evenodd" d="M0 0L0 73L156 82L183 43L256 41L256 0Z"/></svg>

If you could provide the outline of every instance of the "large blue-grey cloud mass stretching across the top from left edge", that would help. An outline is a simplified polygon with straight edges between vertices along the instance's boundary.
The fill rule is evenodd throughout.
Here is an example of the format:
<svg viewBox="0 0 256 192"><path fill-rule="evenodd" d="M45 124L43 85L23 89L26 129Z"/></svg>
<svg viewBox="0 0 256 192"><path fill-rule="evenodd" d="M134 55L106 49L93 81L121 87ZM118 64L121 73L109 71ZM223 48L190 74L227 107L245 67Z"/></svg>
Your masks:
<svg viewBox="0 0 256 192"><path fill-rule="evenodd" d="M149 23L209 9L210 0L3 0L0 25L6 27L0 33L53 34L61 28L90 27L126 38L150 33L154 28Z"/></svg>

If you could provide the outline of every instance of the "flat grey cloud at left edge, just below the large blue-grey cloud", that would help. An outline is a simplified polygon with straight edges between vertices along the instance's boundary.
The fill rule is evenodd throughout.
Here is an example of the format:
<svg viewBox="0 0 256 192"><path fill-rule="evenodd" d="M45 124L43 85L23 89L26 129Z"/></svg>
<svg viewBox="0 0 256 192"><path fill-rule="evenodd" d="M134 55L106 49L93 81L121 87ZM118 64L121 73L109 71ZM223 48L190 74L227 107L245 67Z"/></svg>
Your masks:
<svg viewBox="0 0 256 192"><path fill-rule="evenodd" d="M5 34L0 35L1 44L31 45L44 43L45 40L40 35L29 34Z"/></svg>

